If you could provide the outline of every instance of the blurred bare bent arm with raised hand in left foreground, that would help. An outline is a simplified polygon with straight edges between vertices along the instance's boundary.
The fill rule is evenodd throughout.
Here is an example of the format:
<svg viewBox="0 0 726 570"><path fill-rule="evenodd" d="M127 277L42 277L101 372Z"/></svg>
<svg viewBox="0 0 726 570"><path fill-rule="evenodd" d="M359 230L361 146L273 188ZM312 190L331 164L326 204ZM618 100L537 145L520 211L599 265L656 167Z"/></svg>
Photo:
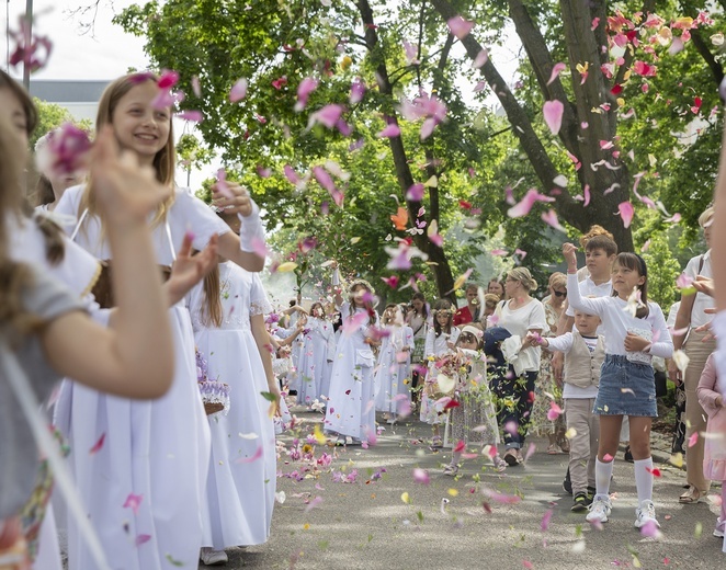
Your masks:
<svg viewBox="0 0 726 570"><path fill-rule="evenodd" d="M114 258L114 329L71 312L45 327L43 346L60 374L110 394L156 398L171 385L173 341L146 217L169 191L135 157L118 157L110 128L97 138L91 174Z"/></svg>

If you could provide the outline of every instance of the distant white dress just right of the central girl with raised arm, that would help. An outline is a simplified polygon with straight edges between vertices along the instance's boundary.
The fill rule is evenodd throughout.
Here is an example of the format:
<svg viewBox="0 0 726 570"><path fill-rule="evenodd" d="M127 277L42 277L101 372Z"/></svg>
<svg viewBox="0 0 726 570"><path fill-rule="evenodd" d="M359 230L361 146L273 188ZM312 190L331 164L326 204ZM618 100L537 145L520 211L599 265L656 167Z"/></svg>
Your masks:
<svg viewBox="0 0 726 570"><path fill-rule="evenodd" d="M375 409L378 412L398 413L402 400L396 397L404 395L409 402L411 400L413 330L408 324L387 326L386 329L390 334L381 343L374 375ZM404 352L405 347L408 347L408 352Z"/></svg>

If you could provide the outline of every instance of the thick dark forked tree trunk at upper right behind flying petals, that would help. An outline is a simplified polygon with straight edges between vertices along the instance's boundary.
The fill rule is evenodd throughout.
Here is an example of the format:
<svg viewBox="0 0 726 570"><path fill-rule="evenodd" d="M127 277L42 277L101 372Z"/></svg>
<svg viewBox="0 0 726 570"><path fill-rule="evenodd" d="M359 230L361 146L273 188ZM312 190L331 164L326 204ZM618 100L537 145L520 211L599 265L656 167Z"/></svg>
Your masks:
<svg viewBox="0 0 726 570"><path fill-rule="evenodd" d="M457 15L447 0L432 0L432 4L444 21ZM622 219L617 215L619 204L626 202L629 196L629 175L625 164L613 156L613 151L617 149L615 147L602 149L600 145L601 140L614 140L616 134L616 103L610 101L614 99L610 95L611 86L605 83L604 76L600 72L601 50L598 38L603 35L604 29L600 30L600 27L605 25L605 19L603 18L600 26L592 31L593 12L589 4L581 0L560 0L569 66L574 78L575 103L571 103L567 100L559 79L549 86L546 84L554 62L544 37L524 2L510 0L509 5L510 16L535 70L544 99L557 99L565 105L559 138L565 148L582 164L577 176L581 189L589 186L591 202L587 207L581 202L575 201L567 189L554 182L559 172L547 155L543 141L534 132L525 110L515 100L490 59L480 68L480 72L504 109L512 124L512 130L530 159L545 193L555 190L552 195L555 197L554 206L559 216L583 232L593 224L599 224L613 235L621 251L632 251L633 236L629 228L623 227ZM600 10L598 12L600 15L601 9L597 7L594 9ZM462 44L472 59L483 49L472 34L465 36ZM580 75L576 66L585 61L589 62L590 73L587 81L580 84ZM600 105L608 103L612 103L610 111L592 113L592 109L599 109ZM608 161L613 170L604 164L597 164L602 160Z"/></svg>

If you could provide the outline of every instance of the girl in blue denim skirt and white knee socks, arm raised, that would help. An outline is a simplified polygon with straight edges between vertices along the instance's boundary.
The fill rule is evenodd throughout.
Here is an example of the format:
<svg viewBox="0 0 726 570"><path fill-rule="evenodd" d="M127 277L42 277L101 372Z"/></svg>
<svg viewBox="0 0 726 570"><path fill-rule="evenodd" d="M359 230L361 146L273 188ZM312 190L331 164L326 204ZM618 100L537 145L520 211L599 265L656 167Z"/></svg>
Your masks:
<svg viewBox="0 0 726 570"><path fill-rule="evenodd" d="M662 310L648 301L648 271L635 253L621 253L613 264L613 295L585 298L577 281L577 248L563 246L567 261L567 296L575 310L598 315L605 337L605 362L594 413L600 415L600 443L595 460L597 494L587 515L589 522L608 522L611 511L610 478L617 452L623 417L631 422L631 451L635 459L638 493L635 526L660 526L653 504L650 424L657 417L653 356L668 358L673 343Z"/></svg>

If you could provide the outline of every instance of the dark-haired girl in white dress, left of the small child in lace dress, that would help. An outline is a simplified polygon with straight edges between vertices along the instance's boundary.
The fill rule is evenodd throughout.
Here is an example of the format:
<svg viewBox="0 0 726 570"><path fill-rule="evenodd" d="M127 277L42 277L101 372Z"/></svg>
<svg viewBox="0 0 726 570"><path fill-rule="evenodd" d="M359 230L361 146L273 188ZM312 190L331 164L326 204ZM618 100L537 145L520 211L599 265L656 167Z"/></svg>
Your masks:
<svg viewBox="0 0 726 570"><path fill-rule="evenodd" d="M436 404L436 363L452 352L461 330L454 327L454 309L449 299L439 299L433 305L433 327L426 335L423 356L429 364L426 385L421 394L421 421L431 425L433 447L441 447L442 440L439 425L442 422L443 409Z"/></svg>

